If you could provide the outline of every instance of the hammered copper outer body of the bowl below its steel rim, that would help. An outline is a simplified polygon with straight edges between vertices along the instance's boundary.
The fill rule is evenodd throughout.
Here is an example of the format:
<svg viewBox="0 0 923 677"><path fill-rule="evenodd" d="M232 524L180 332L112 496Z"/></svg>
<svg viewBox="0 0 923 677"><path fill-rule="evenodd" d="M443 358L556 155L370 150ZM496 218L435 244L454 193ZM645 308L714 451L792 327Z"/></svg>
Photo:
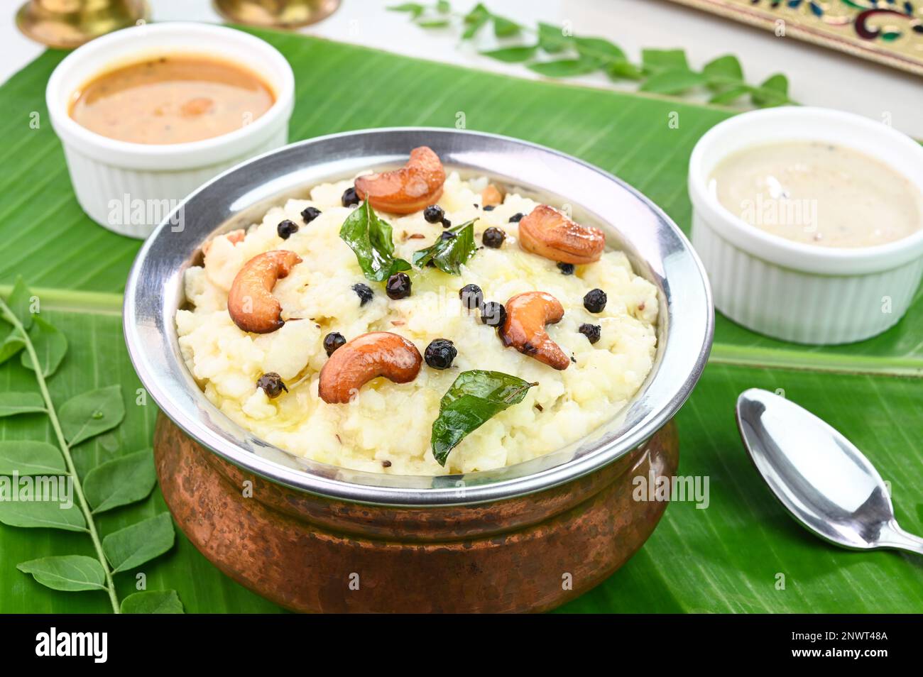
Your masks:
<svg viewBox="0 0 923 677"><path fill-rule="evenodd" d="M578 481L482 505L361 505L265 481L161 415L163 497L222 572L297 612L541 612L593 588L651 535L666 503L636 477L676 475L675 424ZM246 497L245 493L250 493Z"/></svg>

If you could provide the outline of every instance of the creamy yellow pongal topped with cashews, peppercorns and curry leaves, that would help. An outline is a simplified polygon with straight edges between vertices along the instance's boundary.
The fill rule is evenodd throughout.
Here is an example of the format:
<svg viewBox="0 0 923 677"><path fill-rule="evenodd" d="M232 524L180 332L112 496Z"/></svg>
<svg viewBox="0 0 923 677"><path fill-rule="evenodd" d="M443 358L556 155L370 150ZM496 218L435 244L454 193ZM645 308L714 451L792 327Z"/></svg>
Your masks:
<svg viewBox="0 0 923 677"><path fill-rule="evenodd" d="M653 366L656 289L601 231L447 174L429 148L203 253L176 314L186 365L234 422L296 456L500 468L611 419Z"/></svg>

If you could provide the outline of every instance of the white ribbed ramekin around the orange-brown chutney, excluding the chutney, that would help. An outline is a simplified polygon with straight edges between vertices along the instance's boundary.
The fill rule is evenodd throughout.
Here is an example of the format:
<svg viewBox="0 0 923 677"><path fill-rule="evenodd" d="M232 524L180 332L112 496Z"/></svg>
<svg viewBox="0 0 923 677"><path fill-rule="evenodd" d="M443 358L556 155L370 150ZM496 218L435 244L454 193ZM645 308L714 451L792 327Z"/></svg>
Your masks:
<svg viewBox="0 0 923 677"><path fill-rule="evenodd" d="M164 53L204 54L239 63L263 78L276 101L240 129L177 144L117 141L90 132L70 117L74 91L92 77ZM198 185L287 142L294 74L275 48L240 30L196 23L149 24L115 31L69 54L49 78L45 101L64 145L80 207L111 231L143 238Z"/></svg>

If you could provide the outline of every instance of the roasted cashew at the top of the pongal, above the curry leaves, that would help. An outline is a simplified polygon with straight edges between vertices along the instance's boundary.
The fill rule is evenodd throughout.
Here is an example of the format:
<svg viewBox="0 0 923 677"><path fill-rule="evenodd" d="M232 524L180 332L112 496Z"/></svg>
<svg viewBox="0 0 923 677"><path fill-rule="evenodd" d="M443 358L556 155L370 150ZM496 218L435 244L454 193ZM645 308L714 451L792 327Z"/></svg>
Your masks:
<svg viewBox="0 0 923 677"><path fill-rule="evenodd" d="M446 171L432 149L421 146L410 151L401 169L367 174L355 180L355 192L373 208L392 214L412 214L434 204L442 195Z"/></svg>

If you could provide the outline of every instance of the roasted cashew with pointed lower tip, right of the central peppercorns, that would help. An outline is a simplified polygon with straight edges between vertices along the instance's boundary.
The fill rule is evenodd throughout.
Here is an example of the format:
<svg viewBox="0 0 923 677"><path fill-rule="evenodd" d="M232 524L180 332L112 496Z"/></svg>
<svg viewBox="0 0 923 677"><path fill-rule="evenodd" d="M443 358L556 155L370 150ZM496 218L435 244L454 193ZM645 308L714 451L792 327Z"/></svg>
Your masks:
<svg viewBox="0 0 923 677"><path fill-rule="evenodd" d="M545 325L560 322L564 307L546 291L526 291L513 296L506 305L507 320L500 327L503 345L558 370L567 369L570 358L548 333Z"/></svg>

